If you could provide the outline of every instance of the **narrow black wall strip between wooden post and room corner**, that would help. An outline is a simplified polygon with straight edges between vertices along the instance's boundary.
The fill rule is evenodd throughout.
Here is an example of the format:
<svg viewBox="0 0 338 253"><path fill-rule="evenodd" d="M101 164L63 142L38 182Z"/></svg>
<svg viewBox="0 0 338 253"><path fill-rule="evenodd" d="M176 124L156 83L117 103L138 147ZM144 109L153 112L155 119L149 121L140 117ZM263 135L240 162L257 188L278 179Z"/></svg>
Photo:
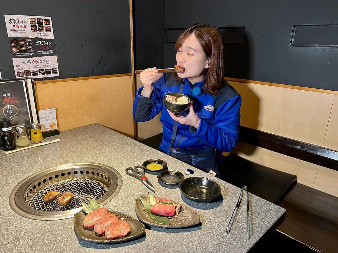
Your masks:
<svg viewBox="0 0 338 253"><path fill-rule="evenodd" d="M135 69L164 68L164 1L133 1Z"/></svg>

